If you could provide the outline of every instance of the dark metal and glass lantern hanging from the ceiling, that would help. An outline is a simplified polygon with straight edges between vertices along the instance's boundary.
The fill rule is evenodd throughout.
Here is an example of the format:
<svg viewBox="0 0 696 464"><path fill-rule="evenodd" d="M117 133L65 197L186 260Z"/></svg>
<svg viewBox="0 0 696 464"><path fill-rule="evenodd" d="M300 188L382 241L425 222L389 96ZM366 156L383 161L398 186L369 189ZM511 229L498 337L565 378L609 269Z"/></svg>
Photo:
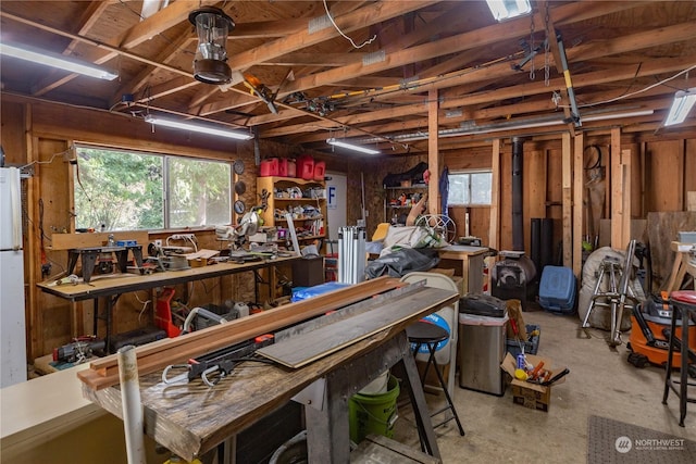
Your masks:
<svg viewBox="0 0 696 464"><path fill-rule="evenodd" d="M191 11L188 21L196 26L198 49L194 60L194 77L206 84L226 84L232 79L227 65L227 33L235 23L222 10L203 7Z"/></svg>

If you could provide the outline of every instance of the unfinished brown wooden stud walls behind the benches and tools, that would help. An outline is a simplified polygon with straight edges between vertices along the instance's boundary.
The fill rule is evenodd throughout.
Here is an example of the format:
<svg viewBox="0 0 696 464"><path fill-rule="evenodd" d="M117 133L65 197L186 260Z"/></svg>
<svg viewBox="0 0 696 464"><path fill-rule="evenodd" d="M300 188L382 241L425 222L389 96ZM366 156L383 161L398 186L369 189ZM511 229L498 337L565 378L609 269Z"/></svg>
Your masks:
<svg viewBox="0 0 696 464"><path fill-rule="evenodd" d="M150 127L142 122L116 116L107 112L92 112L87 110L73 109L65 111L64 106L49 104L45 102L27 102L17 100L14 97L2 97L1 125L2 146L8 156L8 162L12 164L27 164L32 161L48 161L54 153L65 150L73 140L80 140L92 143L103 143L134 148L140 150L151 150L170 152L173 154L196 155L210 159L245 161L247 171L243 180L247 184L247 193L243 198L247 205L256 204L256 176L257 168L253 160L252 143L221 143L217 140L210 141L203 137L197 138L189 135L176 133L165 133L159 130L151 133ZM681 211L686 205L686 192L696 191L696 139L674 140L652 138L638 138L632 135L610 137L609 133L585 135L584 143L574 140L574 174L572 176L573 186L573 224L572 236L573 250L577 250L580 240L579 231L585 230L584 226L577 225L577 192L583 190L583 180L579 180L577 166L583 160L584 153L579 150L591 143L600 145L605 154L604 163L607 167L607 177L611 178L610 162L607 154L608 147L612 145L614 153L621 150L631 150L632 170L630 174L631 189L630 210L634 217L645 217L651 211ZM494 149L494 143L497 147ZM297 147L278 146L260 141L262 158L270 155L295 158L302 153ZM562 206L568 201L568 178L563 175L563 150L560 137L545 136L536 137L524 145L524 217L525 217L525 241L529 243L529 221L531 217L550 217L555 220L555 241L558 242L566 237L569 240L569 231L561 228L563 214ZM494 153L499 153L494 160ZM636 153L644 153L644 156L636 161ZM388 173L399 173L413 167L420 161L426 161L423 156L382 156L376 160L361 160L356 163L355 159L347 159L337 155L316 155L327 162L330 171L345 172L348 177L348 211L349 224L355 224L361 215L361 174L364 176L368 216L368 235L376 228L383 221L382 208L384 190L382 179ZM459 152L450 153L442 159L442 166L449 170L471 167L489 167L498 165L499 201L494 203L494 208L469 209L471 234L481 237L484 244L493 241L497 237L495 248L498 250L510 249L512 246L511 234L511 145L507 139L499 139L495 142L485 142L478 146L462 148ZM614 166L616 167L616 166ZM38 292L34 284L40 280L40 234L37 229L39 223L38 201L44 201L44 226L46 234L50 237L53 228L62 229L71 227L70 213L72 204L69 192L71 191L72 172L71 165L57 158L51 164L36 165L36 173L27 181L27 212L30 216L30 225L27 230L27 319L29 321L29 355L38 355L50 352L54 347L70 341L71 335L79 335L80 329L91 326L90 302L79 303L74 312L66 301ZM681 173L675 178L674 173ZM642 179L645 178L645 188L638 189ZM676 180L675 180L676 179ZM531 185L533 187L531 187ZM538 188L538 186L545 188ZM612 193L609 185L607 187L607 199L611 199ZM637 191L636 190L643 190ZM584 195L584 191L583 191ZM623 191L617 195L623 196ZM643 208L642 204L645 204ZM607 204L604 217L608 217L610 205ZM496 222L492 220L492 211L497 211ZM624 210L627 211L627 210ZM451 209L450 213L457 223L458 230L464 230L463 209ZM567 218L566 218L567 221ZM495 229L492 230L490 228ZM459 234L463 235L463 234ZM165 238L166 234L152 235L150 238ZM214 241L212 234L202 238L206 248L219 246ZM48 244L48 243L46 243ZM576 269L576 251L573 252L573 267ZM57 273L60 265L65 265L66 255L59 252L49 252L49 258L57 264L52 273ZM236 297L236 292L252 291L249 287L252 279L248 276L234 276L228 280L207 281L196 284L192 287L195 298L201 300L224 301ZM189 291L182 288L181 292ZM146 292L138 293L137 298L145 301L149 298ZM135 296L124 297L117 305L119 319L116 330L127 330L140 324L139 313L142 305ZM146 311L145 313L149 313ZM73 318L72 314L76 314Z"/></svg>

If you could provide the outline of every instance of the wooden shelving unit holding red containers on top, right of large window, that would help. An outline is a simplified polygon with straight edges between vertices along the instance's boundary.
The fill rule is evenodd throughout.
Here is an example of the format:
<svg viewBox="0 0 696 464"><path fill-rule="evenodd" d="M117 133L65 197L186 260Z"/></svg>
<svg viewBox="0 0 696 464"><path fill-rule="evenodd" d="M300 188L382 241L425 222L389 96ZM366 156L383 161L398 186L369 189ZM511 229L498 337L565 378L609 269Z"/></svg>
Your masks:
<svg viewBox="0 0 696 464"><path fill-rule="evenodd" d="M294 197L303 195L308 189L323 191L320 198ZM298 190L299 189L299 190ZM323 239L326 235L326 184L323 180L304 180L295 177L259 177L257 179L257 190L266 190L271 195L268 200L268 208L261 213L263 225L277 227L278 230L286 230L286 238L289 239L288 222L285 217L276 214L276 210L291 211L299 206L312 205L318 211L318 215L297 215L293 217L295 229L298 230L297 239L300 242ZM309 230L310 233L302 233ZM281 234L282 236L282 234ZM285 241L283 238L282 241Z"/></svg>

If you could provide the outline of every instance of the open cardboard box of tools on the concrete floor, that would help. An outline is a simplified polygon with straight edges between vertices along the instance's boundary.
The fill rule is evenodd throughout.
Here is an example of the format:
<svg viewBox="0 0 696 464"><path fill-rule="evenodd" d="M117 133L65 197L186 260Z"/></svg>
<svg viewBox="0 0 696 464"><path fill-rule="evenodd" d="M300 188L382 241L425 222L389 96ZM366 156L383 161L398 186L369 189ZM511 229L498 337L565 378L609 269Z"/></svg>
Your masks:
<svg viewBox="0 0 696 464"><path fill-rule="evenodd" d="M508 353L500 367L512 377L512 402L544 412L551 404L551 386L562 383L570 373L568 368L554 368L551 360L533 354L515 359Z"/></svg>

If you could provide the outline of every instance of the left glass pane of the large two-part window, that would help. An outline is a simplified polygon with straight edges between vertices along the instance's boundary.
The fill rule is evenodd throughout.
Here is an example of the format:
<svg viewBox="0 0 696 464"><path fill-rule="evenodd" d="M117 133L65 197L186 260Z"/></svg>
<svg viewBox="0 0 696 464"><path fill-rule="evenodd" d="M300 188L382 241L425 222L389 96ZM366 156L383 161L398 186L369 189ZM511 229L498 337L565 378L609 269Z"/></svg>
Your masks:
<svg viewBox="0 0 696 464"><path fill-rule="evenodd" d="M164 227L160 155L77 147L75 226L99 230Z"/></svg>

